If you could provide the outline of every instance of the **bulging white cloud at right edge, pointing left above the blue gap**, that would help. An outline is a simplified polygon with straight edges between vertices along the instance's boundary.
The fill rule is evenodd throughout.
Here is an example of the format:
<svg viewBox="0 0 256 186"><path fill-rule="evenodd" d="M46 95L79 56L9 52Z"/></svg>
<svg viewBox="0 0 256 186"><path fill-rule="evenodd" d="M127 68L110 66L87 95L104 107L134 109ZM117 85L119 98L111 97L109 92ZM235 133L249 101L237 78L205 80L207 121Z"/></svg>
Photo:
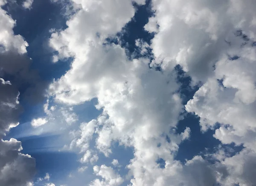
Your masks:
<svg viewBox="0 0 256 186"><path fill-rule="evenodd" d="M239 40L243 42L241 38L232 41L240 48ZM251 69L255 66L256 51L250 45L233 50L239 59L232 61L224 56L216 62L214 77L188 101L186 110L200 116L202 130L221 124L214 136L222 143L235 142L255 150L256 76Z"/></svg>

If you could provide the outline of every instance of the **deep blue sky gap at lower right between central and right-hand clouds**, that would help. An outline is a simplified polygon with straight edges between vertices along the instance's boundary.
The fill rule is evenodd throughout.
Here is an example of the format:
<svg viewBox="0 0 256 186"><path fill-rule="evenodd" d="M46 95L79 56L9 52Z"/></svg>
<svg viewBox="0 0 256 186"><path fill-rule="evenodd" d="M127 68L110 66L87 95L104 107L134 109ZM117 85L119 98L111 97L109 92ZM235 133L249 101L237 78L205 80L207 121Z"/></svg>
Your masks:
<svg viewBox="0 0 256 186"><path fill-rule="evenodd" d="M192 99L200 85L191 87L191 78L186 75L179 65L175 67L175 70L177 71L177 82L180 83L179 93L182 98L182 102L185 105L187 101ZM176 160L185 163L186 160L191 160L196 155L202 155L205 157L206 154L216 152L217 147L221 144L221 141L213 137L215 129L219 127L218 124L216 124L215 129L209 129L206 132L202 132L199 124L199 117L194 113L187 113L186 110L183 110L181 119L177 124L176 132L181 133L186 129L186 127L189 127L191 130L190 137L179 145L178 152L175 156ZM222 145L222 148L230 149L230 156L233 156L240 152L243 149L243 146L227 144Z"/></svg>

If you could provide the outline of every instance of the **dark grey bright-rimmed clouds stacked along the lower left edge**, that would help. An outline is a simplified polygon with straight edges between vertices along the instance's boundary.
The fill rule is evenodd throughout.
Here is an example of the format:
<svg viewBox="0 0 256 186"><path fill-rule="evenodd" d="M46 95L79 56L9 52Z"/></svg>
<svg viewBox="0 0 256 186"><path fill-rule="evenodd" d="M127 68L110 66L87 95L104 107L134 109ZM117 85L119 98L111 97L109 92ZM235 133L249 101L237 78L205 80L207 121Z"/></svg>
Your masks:
<svg viewBox="0 0 256 186"><path fill-rule="evenodd" d="M9 141L2 139L6 132L19 124L19 92L3 79L0 89L0 182L3 185L25 186L35 173L35 160L20 153L20 141L14 138Z"/></svg>

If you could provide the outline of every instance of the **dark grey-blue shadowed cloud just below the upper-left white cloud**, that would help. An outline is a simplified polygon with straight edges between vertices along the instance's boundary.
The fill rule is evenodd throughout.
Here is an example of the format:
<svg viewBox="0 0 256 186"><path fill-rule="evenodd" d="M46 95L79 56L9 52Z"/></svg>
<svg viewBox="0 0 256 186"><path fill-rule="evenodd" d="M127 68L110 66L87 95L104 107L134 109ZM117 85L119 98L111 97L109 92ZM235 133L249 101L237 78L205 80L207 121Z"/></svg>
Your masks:
<svg viewBox="0 0 256 186"><path fill-rule="evenodd" d="M31 64L32 59L15 50L0 54L0 76L8 78L27 101L36 103L44 99L47 82L41 80Z"/></svg>

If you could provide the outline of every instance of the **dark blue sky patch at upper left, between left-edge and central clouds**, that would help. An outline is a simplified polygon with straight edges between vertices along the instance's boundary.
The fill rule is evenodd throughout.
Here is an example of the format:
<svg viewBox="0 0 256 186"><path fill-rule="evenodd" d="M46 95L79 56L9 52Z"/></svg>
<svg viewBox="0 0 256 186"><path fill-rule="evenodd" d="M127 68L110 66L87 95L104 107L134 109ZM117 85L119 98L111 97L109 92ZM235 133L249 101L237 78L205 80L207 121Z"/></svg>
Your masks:
<svg viewBox="0 0 256 186"><path fill-rule="evenodd" d="M13 19L17 20L14 33L22 35L29 43L27 54L33 60L32 68L38 70L41 78L46 81L59 78L70 68L71 59L67 62L52 63L52 50L48 45L50 29L67 27L67 19L62 9L61 5L52 3L51 0L37 0L33 2L31 10L18 6L8 11Z"/></svg>

